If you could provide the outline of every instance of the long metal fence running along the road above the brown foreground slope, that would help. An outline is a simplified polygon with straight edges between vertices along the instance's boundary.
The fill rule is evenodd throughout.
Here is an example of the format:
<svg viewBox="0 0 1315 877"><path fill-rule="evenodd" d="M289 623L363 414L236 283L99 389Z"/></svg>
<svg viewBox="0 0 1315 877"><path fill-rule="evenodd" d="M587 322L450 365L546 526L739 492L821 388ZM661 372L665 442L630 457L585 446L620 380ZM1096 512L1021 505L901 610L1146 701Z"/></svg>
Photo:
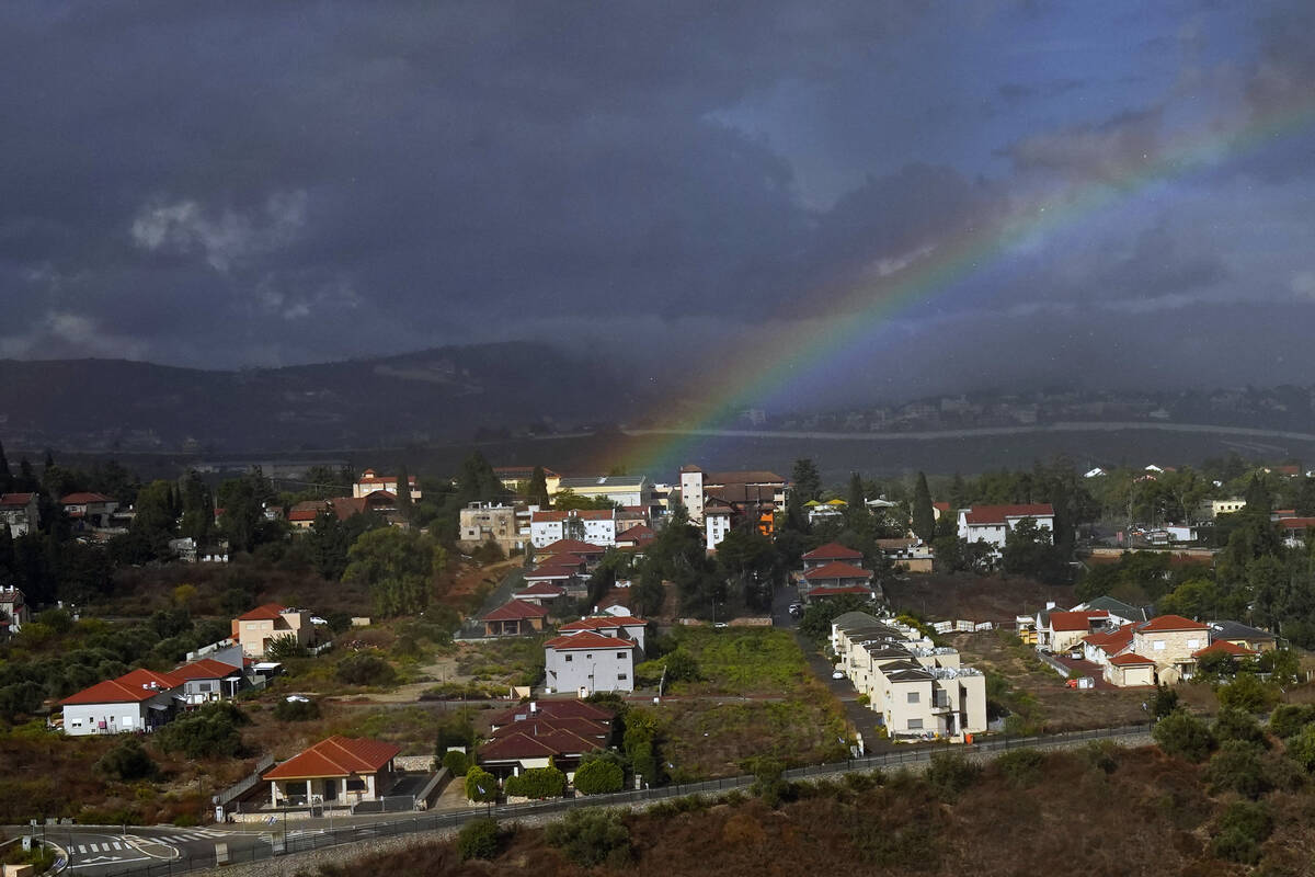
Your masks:
<svg viewBox="0 0 1315 877"><path fill-rule="evenodd" d="M1076 746L1089 740L1120 739L1141 736L1149 732L1149 726L1135 724L1118 728L1099 728L1094 731L1072 731L1066 734L1048 734L1044 736L1024 738L990 738L970 747L959 744L914 744L901 747L890 752L872 755L846 761L830 764L817 764L805 768L794 768L785 772L788 780L803 780L827 774L843 774L857 770L881 770L898 768L902 765L927 763L932 757L944 752L1002 752L1006 749L1022 748L1063 748ZM366 824L356 824L342 828L291 828L288 823L274 824L271 831L256 834L234 834L226 836L229 853L226 863L230 865L260 861L274 856L309 852L326 847L355 844L381 838L409 835L422 831L455 830L472 819L492 817L494 819L523 819L540 814L565 813L577 807L615 807L627 805L642 805L685 795L704 795L732 789L746 789L753 784L753 777L739 776L723 780L707 780L705 782L676 784L656 789L636 789L631 792L617 792L614 794L579 795L573 798L560 798L555 801L531 801L517 805L487 805L468 810L447 813L418 813L402 819L379 820ZM296 824L296 823L292 823ZM281 830L280 830L281 828ZM241 843L246 839L249 843ZM192 853L181 859L158 861L139 866L126 866L121 870L103 870L103 877L163 877L166 874L185 874L193 870L204 870L225 864L217 861L214 852Z"/></svg>

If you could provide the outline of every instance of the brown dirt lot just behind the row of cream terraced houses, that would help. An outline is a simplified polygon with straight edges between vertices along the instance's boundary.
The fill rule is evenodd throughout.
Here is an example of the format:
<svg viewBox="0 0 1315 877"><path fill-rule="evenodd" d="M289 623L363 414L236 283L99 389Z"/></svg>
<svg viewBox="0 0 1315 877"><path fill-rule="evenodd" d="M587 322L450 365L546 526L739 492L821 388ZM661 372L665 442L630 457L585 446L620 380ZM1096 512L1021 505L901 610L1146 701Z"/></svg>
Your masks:
<svg viewBox="0 0 1315 877"><path fill-rule="evenodd" d="M927 621L1013 622L1036 613L1048 601L1069 607L1077 602L1072 585L1043 585L1020 577L985 577L964 573L909 576L884 585L890 605Z"/></svg>

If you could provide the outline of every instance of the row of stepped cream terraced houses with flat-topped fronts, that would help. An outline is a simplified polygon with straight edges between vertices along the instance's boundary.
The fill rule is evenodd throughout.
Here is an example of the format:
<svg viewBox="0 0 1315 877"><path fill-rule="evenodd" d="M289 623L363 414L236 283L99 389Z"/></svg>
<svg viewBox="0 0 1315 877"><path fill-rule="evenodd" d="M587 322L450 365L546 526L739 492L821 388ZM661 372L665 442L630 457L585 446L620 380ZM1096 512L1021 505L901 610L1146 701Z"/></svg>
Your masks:
<svg viewBox="0 0 1315 877"><path fill-rule="evenodd" d="M893 739L965 740L986 730L986 677L963 667L956 650L868 613L832 621L831 642L838 669L868 696Z"/></svg>

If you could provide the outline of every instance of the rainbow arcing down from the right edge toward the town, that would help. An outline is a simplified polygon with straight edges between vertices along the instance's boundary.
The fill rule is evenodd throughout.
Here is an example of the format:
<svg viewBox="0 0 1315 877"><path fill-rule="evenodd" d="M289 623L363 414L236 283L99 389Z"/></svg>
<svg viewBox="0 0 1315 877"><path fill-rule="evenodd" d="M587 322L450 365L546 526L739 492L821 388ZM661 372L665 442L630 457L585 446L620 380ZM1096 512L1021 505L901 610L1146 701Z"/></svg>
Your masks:
<svg viewBox="0 0 1315 877"><path fill-rule="evenodd" d="M830 288L814 289L807 301L825 317L800 330L777 333L771 348L792 351L778 358L732 358L711 363L702 379L721 375L711 392L684 396L664 423L669 429L640 431L626 448L626 468L631 472L659 472L686 462L697 462L697 444L709 434L732 423L746 409L818 372L861 352L861 344L888 322L914 304L934 300L956 284L998 264L1015 246L1044 239L1076 221L1131 200L1149 187L1184 179L1223 160L1245 155L1315 121L1315 97L1251 117L1231 130L1187 131L1157 150L1155 156L1128 162L1102 179L1060 196L1032 202L1026 210L960 233L935 249L919 251L909 264L881 277L863 277ZM789 321L782 320L781 323ZM688 458L688 459L686 459Z"/></svg>

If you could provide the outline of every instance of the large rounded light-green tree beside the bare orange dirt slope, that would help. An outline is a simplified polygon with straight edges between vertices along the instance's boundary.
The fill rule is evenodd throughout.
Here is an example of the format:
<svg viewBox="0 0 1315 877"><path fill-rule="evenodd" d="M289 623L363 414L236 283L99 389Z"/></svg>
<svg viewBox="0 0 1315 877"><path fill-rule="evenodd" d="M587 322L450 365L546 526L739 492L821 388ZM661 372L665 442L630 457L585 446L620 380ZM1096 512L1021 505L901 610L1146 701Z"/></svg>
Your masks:
<svg viewBox="0 0 1315 877"><path fill-rule="evenodd" d="M433 536L397 527L360 534L347 559L343 580L366 584L385 617L423 611L434 577L447 565L447 552Z"/></svg>

